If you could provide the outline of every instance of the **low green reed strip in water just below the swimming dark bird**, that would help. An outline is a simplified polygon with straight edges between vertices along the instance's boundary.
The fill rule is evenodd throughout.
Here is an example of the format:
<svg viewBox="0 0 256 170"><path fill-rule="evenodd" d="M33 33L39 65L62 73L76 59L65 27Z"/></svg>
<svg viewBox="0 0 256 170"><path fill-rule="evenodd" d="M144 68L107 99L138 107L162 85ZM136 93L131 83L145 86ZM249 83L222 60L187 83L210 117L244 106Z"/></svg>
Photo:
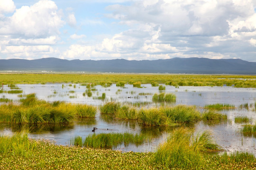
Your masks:
<svg viewBox="0 0 256 170"><path fill-rule="evenodd" d="M71 140L71 144L81 146L82 138L76 137ZM120 144L128 146L129 144L140 145L146 140L143 135L133 135L130 133L110 133L110 134L93 134L87 136L82 142L82 146L92 148L112 148Z"/></svg>

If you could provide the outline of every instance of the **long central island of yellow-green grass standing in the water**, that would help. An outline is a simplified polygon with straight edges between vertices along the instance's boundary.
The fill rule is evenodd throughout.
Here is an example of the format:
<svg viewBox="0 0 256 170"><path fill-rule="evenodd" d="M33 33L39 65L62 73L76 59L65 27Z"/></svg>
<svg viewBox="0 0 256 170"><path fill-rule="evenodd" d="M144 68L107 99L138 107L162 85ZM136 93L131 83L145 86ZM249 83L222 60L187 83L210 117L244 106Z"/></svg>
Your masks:
<svg viewBox="0 0 256 170"><path fill-rule="evenodd" d="M201 113L195 106L186 105L138 109L127 105L122 106L117 102L108 102L101 105L100 110L102 115L111 115L116 119L134 119L143 125L149 126L177 126L193 124L200 120L205 122L227 120L227 115L214 110Z"/></svg>

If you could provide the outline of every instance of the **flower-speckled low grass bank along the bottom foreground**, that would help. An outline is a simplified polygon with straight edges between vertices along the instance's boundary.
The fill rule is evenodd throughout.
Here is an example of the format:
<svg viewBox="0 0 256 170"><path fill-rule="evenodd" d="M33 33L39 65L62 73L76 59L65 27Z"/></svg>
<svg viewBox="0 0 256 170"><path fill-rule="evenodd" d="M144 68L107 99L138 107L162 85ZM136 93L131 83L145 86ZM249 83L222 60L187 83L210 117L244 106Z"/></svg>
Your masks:
<svg viewBox="0 0 256 170"><path fill-rule="evenodd" d="M5 147L9 144L8 147ZM4 147L3 147L4 146ZM2 170L254 170L252 154L201 154L199 166L168 167L155 161L157 153L121 153L110 149L91 149L54 145L35 141L26 134L0 136L0 169ZM179 160L180 161L180 160Z"/></svg>

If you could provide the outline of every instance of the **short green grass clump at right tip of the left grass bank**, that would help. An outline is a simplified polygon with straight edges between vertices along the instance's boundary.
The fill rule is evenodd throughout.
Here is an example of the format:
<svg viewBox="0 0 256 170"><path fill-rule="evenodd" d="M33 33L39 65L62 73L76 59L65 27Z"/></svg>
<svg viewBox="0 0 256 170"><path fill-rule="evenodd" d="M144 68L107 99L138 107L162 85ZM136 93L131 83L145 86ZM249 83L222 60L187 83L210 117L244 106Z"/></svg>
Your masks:
<svg viewBox="0 0 256 170"><path fill-rule="evenodd" d="M97 112L97 108L91 105L76 105L76 115L80 118L94 118Z"/></svg>

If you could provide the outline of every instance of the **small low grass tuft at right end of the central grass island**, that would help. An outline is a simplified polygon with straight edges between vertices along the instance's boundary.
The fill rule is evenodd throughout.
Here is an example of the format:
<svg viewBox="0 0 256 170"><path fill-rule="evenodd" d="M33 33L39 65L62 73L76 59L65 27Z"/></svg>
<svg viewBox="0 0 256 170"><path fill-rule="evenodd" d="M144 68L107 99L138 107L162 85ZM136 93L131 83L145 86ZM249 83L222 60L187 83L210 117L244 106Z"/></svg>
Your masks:
<svg viewBox="0 0 256 170"><path fill-rule="evenodd" d="M203 121L221 121L221 120L227 120L228 117L225 114L218 113L215 110L207 110L203 112L202 114L202 120Z"/></svg>

